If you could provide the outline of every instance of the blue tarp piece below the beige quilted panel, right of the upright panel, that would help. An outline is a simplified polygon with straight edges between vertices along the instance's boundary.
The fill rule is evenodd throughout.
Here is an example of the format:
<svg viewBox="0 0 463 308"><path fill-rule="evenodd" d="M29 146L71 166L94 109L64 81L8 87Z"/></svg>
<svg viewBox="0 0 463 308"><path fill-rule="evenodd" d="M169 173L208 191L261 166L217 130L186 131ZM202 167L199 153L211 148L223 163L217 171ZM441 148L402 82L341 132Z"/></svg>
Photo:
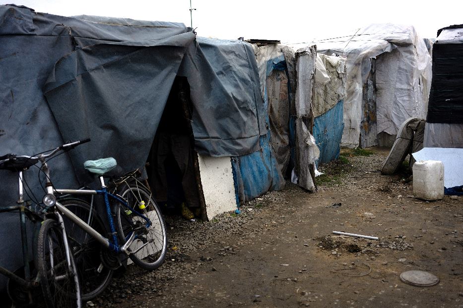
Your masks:
<svg viewBox="0 0 463 308"><path fill-rule="evenodd" d="M314 138L320 149L320 156L316 161L317 166L339 157L339 143L344 129L343 104L344 101L341 100L325 114L315 118Z"/></svg>

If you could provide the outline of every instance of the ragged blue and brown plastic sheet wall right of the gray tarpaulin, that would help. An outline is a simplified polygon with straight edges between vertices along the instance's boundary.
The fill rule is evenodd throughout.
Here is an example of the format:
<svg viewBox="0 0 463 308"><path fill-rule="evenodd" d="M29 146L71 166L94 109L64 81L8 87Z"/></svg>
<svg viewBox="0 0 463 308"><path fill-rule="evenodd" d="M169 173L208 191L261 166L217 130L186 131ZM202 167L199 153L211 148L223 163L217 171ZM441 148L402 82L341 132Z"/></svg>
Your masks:
<svg viewBox="0 0 463 308"><path fill-rule="evenodd" d="M289 101L286 93L281 91L287 79L281 80L285 72L285 62L281 47L276 45L258 48L257 62L264 98L267 134L261 137L261 150L242 156L232 157L236 190L240 203L248 202L265 194L267 191L281 190L285 180L282 171L289 161L289 127L284 125L289 119ZM285 74L285 73L284 73ZM280 80L276 80L280 79ZM267 87L267 81L271 86ZM267 91L270 91L270 100ZM286 94L286 98L284 95Z"/></svg>

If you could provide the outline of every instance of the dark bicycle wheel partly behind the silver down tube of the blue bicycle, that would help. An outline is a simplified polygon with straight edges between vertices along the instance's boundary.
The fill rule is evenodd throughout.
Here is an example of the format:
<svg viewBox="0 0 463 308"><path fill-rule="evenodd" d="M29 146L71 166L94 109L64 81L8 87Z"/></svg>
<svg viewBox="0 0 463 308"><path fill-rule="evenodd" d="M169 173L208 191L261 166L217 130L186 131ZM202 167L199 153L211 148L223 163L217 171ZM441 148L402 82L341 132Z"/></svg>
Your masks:
<svg viewBox="0 0 463 308"><path fill-rule="evenodd" d="M105 225L96 213L86 202L76 199L64 200L61 202L77 217L87 222L90 227L100 234L106 234ZM103 266L100 259L101 244L88 235L70 219L63 216L65 223L69 250L74 256L77 274L80 281L80 297L83 302L90 301L100 295L107 287L113 277L114 271Z"/></svg>

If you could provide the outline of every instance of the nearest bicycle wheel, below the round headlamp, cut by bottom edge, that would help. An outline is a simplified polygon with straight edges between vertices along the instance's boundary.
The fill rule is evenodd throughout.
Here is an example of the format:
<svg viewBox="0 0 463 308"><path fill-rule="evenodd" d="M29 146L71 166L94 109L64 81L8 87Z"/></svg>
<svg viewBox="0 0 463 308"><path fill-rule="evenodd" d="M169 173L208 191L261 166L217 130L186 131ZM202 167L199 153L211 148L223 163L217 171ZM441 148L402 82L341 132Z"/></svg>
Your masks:
<svg viewBox="0 0 463 308"><path fill-rule="evenodd" d="M74 258L70 266L61 225L54 219L43 222L37 245L37 269L48 308L80 308L80 290Z"/></svg>

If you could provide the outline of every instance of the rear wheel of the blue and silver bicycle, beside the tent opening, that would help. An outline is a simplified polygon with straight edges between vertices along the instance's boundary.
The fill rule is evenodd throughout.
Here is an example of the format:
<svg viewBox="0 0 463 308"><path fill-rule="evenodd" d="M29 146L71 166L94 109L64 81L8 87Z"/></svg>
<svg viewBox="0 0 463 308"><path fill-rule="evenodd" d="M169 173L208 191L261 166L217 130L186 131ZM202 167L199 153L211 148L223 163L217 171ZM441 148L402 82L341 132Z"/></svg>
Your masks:
<svg viewBox="0 0 463 308"><path fill-rule="evenodd" d="M158 205L151 198L151 193L138 182L125 184L122 186L122 189L118 189L118 192L129 206L145 217L148 217L152 223L149 229L145 230L144 234L140 234L139 238L133 241L130 250L136 251L143 244L149 241L151 243L148 243L136 254L130 254L129 257L133 263L144 269L153 270L158 268L164 261L167 252L166 226ZM144 201L144 209L140 209L138 206L141 200ZM126 237L133 230L143 229L140 226L144 225L145 221L132 211L126 211L125 206L122 204L118 204L116 210L118 234L120 235L121 242L125 243Z"/></svg>

